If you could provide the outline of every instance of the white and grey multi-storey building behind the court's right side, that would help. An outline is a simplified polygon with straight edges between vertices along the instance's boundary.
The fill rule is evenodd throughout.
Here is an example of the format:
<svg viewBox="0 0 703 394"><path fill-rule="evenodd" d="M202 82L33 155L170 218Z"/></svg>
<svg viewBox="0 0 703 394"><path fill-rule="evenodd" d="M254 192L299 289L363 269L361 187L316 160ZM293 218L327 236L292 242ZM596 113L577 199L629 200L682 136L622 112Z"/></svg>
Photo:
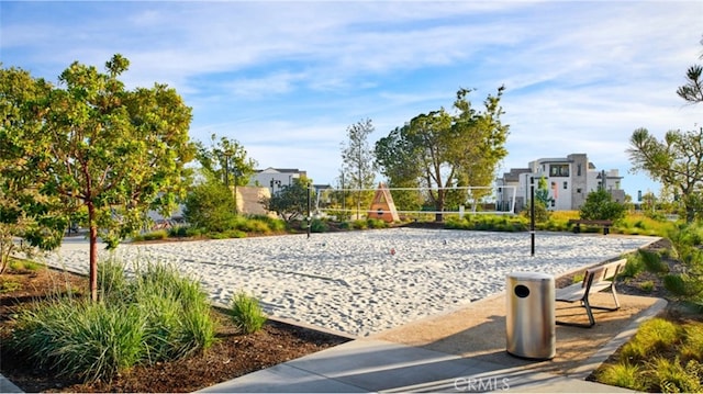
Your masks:
<svg viewBox="0 0 703 394"><path fill-rule="evenodd" d="M527 168L513 168L505 172L496 180L499 201L509 201L511 195L505 193L513 192L513 188L500 189L501 185L515 187L515 211L522 211L531 199L531 182L534 181L536 191L542 177L547 181L550 199L547 209L551 211L579 210L585 196L599 188L605 188L615 201L625 200L625 191L621 189L623 177L616 169L598 170L585 154L572 154L566 158L537 159Z"/></svg>

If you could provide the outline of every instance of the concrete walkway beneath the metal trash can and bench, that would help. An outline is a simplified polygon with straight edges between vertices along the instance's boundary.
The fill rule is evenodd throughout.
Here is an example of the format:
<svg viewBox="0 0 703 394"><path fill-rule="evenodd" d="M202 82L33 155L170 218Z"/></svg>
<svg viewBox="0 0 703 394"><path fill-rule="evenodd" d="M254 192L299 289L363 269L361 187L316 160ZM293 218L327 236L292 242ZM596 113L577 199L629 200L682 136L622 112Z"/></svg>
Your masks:
<svg viewBox="0 0 703 394"><path fill-rule="evenodd" d="M631 392L584 379L625 344L644 320L660 313L667 302L635 296L621 296L621 300L623 305L631 307L611 316L598 314L595 330L558 326L557 352L563 349L568 356L557 356L553 360L531 361L510 356L505 351L504 320L493 318L488 325L477 323L484 322L495 312L500 313L501 305L504 307L504 294L499 294L451 314L353 340L201 392ZM562 309L562 315L563 311L568 308ZM465 320L465 329L460 335L455 333L446 336L442 329L435 329L438 325L453 325L457 318ZM431 333L419 327L429 327ZM598 335L594 336L594 333ZM432 339L427 339L427 335ZM579 345L573 344L572 336L581 338L577 342L595 340L602 345L593 351L574 351L569 347Z"/></svg>

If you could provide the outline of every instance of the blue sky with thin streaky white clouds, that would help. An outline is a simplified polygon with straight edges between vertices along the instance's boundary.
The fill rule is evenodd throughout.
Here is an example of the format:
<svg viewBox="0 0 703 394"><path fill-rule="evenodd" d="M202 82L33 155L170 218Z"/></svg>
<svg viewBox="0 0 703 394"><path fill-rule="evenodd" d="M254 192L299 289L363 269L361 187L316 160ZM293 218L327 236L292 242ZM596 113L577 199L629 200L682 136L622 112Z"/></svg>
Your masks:
<svg viewBox="0 0 703 394"><path fill-rule="evenodd" d="M259 168L335 183L346 128L370 143L450 109L459 88L504 85L501 173L585 153L632 175L633 131L703 125L676 89L703 63L703 1L0 1L0 61L56 81L120 53L129 88L168 83L193 108L191 137L238 140Z"/></svg>

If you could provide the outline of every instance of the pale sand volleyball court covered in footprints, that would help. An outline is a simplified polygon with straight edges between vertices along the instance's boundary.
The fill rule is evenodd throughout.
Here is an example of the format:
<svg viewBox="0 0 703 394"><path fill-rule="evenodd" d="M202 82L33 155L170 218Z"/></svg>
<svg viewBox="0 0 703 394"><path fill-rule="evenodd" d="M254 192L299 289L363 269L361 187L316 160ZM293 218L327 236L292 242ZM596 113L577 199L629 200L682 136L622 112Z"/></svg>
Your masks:
<svg viewBox="0 0 703 394"><path fill-rule="evenodd" d="M259 299L271 316L364 337L500 294L511 272L558 277L655 240L537 233L531 256L527 233L395 228L310 238L127 244L112 256L141 264L174 264L198 278L216 304L227 305L235 293L245 291ZM111 256L104 246L100 254ZM88 245L67 238L46 259L59 268L88 272ZM500 325L504 312L490 318Z"/></svg>

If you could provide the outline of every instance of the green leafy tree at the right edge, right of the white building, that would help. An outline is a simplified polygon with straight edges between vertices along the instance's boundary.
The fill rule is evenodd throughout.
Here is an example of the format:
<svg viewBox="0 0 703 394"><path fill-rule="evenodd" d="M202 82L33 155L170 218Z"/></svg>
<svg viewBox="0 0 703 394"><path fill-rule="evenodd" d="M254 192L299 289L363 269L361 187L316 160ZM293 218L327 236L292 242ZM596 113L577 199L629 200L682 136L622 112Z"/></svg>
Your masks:
<svg viewBox="0 0 703 394"><path fill-rule="evenodd" d="M673 189L680 195L687 223L703 209L703 127L696 132L669 131L659 142L646 128L637 128L627 149L634 170Z"/></svg>

